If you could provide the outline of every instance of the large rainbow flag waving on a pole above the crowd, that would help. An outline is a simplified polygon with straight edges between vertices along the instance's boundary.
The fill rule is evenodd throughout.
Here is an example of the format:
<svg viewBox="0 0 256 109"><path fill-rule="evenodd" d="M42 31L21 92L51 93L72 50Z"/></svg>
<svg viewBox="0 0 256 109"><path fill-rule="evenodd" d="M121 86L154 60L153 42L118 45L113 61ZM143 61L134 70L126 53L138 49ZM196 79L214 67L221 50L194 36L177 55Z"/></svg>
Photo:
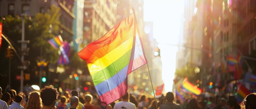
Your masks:
<svg viewBox="0 0 256 109"><path fill-rule="evenodd" d="M127 75L147 63L137 32L136 17L132 14L78 53L87 62L104 107L127 93Z"/></svg>

